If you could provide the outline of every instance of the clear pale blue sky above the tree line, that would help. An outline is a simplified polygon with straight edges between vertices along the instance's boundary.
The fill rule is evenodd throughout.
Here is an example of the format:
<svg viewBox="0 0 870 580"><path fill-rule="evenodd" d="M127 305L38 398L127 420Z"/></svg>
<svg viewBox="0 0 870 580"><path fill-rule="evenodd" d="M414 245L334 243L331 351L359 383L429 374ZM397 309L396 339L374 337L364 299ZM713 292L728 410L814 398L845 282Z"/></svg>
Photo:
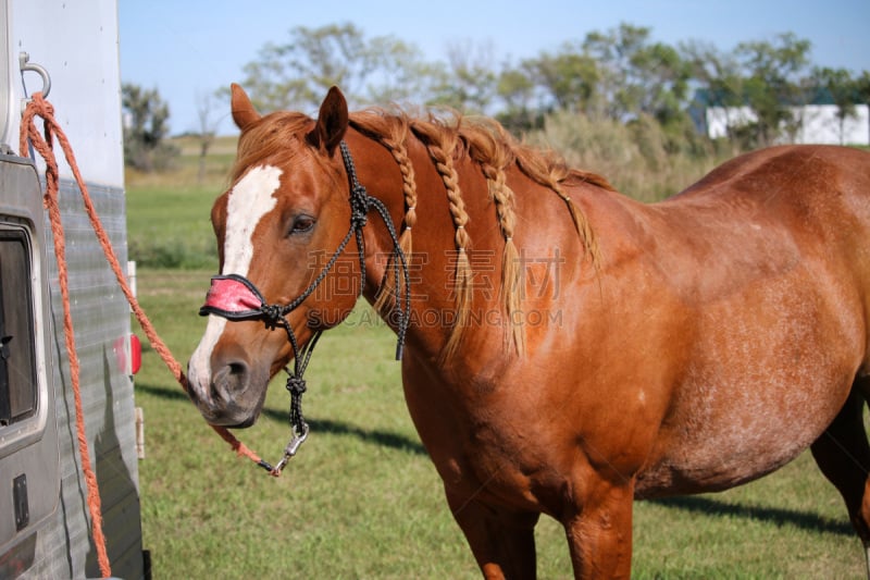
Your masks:
<svg viewBox="0 0 870 580"><path fill-rule="evenodd" d="M443 60L451 44L490 42L496 61L517 62L588 32L626 22L654 40L698 39L721 50L792 32L812 42L813 64L870 70L870 0L120 0L121 77L157 88L173 133L197 128L201 95L244 79L266 42L297 26L353 23L366 36L391 35ZM309 111L311 112L311 111ZM226 115L228 118L228 115ZM232 133L226 120L222 133Z"/></svg>

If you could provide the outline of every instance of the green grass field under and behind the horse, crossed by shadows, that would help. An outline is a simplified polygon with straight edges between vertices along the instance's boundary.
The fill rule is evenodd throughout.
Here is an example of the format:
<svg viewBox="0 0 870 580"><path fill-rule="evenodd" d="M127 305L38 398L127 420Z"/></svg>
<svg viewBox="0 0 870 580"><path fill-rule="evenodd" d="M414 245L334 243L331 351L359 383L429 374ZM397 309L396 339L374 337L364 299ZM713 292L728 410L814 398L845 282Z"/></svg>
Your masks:
<svg viewBox="0 0 870 580"><path fill-rule="evenodd" d="M182 361L204 328L197 309L216 263L208 215L222 188L214 175L185 185L189 169L132 176L127 197L132 259L146 247L136 239L192 248L184 269L145 267L138 279L141 304ZM236 458L146 347L136 403L154 578L478 576L405 408L394 336L361 312L318 347L306 374L311 436L279 479ZM288 436L282 383L260 422L238 433L272 461ZM569 577L561 529L544 518L536 538L539 576ZM637 503L633 566L636 578L859 578L863 555L840 496L804 454L725 493Z"/></svg>

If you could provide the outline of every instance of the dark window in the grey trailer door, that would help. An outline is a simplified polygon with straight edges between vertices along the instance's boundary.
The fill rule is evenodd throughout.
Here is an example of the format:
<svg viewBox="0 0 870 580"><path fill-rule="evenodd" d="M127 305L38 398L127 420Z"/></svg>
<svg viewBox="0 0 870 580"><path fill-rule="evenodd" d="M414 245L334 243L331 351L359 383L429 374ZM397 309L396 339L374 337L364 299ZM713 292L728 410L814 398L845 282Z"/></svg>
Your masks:
<svg viewBox="0 0 870 580"><path fill-rule="evenodd" d="M26 235L0 230L0 427L37 410L30 284Z"/></svg>

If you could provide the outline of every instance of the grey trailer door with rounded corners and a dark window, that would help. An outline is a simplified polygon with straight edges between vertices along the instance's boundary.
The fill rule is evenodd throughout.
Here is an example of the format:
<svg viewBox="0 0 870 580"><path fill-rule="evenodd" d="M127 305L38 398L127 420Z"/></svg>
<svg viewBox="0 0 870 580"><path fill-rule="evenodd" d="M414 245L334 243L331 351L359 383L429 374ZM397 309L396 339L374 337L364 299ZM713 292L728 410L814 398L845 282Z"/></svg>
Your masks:
<svg viewBox="0 0 870 580"><path fill-rule="evenodd" d="M42 223L36 169L0 155L0 578L33 565L60 497Z"/></svg>

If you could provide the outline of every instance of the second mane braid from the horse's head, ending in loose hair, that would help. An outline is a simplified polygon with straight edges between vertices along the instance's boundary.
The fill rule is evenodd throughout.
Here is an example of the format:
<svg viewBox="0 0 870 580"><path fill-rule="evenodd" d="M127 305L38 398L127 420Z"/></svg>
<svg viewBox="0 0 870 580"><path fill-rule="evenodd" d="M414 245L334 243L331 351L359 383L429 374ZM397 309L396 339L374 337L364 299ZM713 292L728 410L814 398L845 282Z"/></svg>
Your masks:
<svg viewBox="0 0 870 580"><path fill-rule="evenodd" d="M447 362L453 358L462 340L462 333L468 324L471 313L472 299L472 270L471 261L468 256L468 248L471 237L465 231L469 222L469 214L465 211L465 202L462 200L462 193L459 189L459 176L453 166L452 155L456 151L458 132L444 125L433 122L414 120L411 122L411 131L426 146L430 158L435 163L438 174L442 176L444 187L447 192L450 215L453 219L456 234L453 240L457 249L456 277L453 280L453 292L456 293L456 321L450 330L447 344L442 351L442 361Z"/></svg>

